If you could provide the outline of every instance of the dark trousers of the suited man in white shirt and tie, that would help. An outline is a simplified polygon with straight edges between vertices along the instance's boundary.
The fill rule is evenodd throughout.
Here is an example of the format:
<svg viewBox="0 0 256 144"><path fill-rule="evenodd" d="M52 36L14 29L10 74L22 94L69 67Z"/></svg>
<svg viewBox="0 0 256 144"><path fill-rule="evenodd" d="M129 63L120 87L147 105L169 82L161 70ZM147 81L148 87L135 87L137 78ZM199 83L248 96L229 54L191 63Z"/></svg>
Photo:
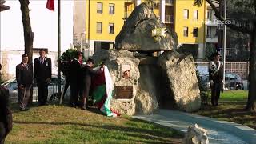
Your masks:
<svg viewBox="0 0 256 144"><path fill-rule="evenodd" d="M46 105L48 97L48 83L38 82L38 102L39 105Z"/></svg>

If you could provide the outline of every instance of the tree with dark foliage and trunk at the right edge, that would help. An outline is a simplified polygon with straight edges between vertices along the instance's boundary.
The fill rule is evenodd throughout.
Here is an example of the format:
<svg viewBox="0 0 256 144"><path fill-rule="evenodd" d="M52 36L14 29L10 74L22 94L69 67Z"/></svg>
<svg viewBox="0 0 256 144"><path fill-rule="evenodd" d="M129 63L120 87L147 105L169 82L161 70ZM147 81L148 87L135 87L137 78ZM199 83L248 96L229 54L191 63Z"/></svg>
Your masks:
<svg viewBox="0 0 256 144"><path fill-rule="evenodd" d="M201 6L204 0L194 0L194 4ZM250 68L249 93L246 109L256 112L256 0L229 0L234 3L234 13L222 17L221 11L214 5L223 0L205 0L215 12L216 18L230 29L250 35Z"/></svg>

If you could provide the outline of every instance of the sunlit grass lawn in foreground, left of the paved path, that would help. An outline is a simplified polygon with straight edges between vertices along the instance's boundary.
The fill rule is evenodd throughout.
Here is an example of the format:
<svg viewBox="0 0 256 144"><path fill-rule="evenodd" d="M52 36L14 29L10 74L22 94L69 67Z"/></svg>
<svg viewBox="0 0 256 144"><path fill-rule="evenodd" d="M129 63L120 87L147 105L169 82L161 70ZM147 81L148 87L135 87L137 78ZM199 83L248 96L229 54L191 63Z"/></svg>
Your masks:
<svg viewBox="0 0 256 144"><path fill-rule="evenodd" d="M108 118L98 110L66 106L14 110L6 143L180 143L182 134L128 116Z"/></svg>

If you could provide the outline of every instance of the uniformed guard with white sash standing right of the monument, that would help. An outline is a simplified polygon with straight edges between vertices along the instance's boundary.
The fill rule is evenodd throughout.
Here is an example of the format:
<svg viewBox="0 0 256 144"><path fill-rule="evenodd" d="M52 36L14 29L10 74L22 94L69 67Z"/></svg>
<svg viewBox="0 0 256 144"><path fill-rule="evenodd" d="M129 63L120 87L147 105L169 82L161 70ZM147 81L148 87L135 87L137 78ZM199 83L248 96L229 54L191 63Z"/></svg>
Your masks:
<svg viewBox="0 0 256 144"><path fill-rule="evenodd" d="M211 104L218 106L218 99L223 86L223 62L221 62L220 54L214 53L214 61L210 61L209 80L211 87Z"/></svg>

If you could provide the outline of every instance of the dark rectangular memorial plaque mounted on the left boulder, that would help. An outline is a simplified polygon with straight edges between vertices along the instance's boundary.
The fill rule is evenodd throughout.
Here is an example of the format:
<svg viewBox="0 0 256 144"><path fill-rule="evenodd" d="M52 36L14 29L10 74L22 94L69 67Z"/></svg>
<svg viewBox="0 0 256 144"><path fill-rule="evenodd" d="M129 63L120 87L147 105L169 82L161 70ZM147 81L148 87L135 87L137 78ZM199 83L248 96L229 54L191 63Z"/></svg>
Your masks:
<svg viewBox="0 0 256 144"><path fill-rule="evenodd" d="M133 86L115 86L117 99L133 98Z"/></svg>

